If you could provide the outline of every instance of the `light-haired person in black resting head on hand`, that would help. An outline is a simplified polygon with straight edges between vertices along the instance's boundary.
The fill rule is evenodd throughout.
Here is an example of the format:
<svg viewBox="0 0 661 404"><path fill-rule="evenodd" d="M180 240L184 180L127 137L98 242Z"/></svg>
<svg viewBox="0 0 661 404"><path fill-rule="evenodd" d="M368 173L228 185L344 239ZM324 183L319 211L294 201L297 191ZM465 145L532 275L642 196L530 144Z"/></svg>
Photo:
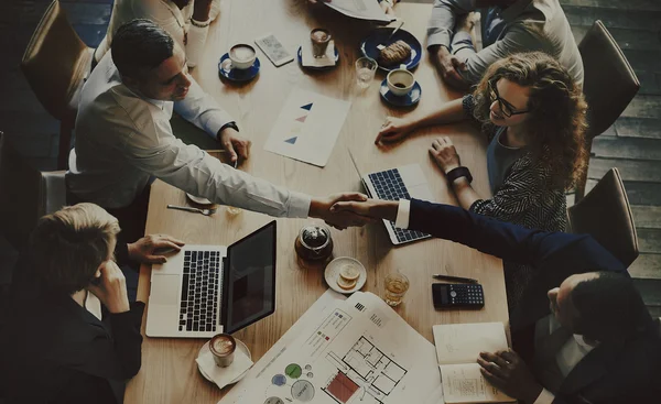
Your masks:
<svg viewBox="0 0 661 404"><path fill-rule="evenodd" d="M7 403L122 403L140 370L144 304L129 302L113 252L163 262L156 236L116 245L117 219L93 204L43 217L15 271L0 336L0 397Z"/></svg>

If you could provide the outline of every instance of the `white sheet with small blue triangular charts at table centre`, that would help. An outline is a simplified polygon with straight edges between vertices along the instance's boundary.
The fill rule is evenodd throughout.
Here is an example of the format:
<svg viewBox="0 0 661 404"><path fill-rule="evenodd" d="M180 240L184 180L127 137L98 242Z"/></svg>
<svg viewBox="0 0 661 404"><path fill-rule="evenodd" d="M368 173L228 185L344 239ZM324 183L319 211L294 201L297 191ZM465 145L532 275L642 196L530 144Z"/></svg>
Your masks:
<svg viewBox="0 0 661 404"><path fill-rule="evenodd" d="M294 88L264 150L323 167L328 163L351 102Z"/></svg>

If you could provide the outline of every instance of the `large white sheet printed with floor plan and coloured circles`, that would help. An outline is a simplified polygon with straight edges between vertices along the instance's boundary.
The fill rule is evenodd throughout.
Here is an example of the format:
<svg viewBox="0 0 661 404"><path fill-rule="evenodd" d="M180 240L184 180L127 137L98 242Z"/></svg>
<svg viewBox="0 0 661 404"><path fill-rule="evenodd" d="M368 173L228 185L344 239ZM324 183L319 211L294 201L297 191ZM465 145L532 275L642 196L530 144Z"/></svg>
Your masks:
<svg viewBox="0 0 661 404"><path fill-rule="evenodd" d="M253 368L241 403L443 403L434 346L371 293L334 302L296 334Z"/></svg>

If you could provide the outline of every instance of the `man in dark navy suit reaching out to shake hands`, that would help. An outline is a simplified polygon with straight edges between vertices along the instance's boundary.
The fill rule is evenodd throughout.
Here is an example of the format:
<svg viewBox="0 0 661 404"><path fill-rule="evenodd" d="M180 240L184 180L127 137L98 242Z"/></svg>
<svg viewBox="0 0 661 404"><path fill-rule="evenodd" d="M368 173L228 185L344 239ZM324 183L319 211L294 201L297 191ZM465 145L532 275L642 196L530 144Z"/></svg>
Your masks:
<svg viewBox="0 0 661 404"><path fill-rule="evenodd" d="M484 376L527 404L652 403L661 337L626 267L588 234L530 230L421 200L337 203L332 210L395 221L535 274L512 313L513 350L481 352ZM534 340L527 340L529 335Z"/></svg>

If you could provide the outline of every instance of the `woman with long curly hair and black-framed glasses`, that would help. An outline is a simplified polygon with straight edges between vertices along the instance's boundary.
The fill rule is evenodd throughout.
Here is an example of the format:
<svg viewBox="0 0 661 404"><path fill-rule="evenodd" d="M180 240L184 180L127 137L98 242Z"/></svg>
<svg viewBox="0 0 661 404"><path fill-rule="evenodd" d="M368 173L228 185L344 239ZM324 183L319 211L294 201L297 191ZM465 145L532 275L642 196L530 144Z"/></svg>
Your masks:
<svg viewBox="0 0 661 404"><path fill-rule="evenodd" d="M470 173L462 166L447 137L436 139L429 149L460 206L528 228L564 231L565 189L585 170L586 109L581 87L556 61L541 52L520 53L492 64L464 99L446 102L418 119L389 117L377 142L393 142L422 127L474 118L489 138L492 198L480 198L473 189ZM529 269L506 265L510 309L530 276Z"/></svg>

